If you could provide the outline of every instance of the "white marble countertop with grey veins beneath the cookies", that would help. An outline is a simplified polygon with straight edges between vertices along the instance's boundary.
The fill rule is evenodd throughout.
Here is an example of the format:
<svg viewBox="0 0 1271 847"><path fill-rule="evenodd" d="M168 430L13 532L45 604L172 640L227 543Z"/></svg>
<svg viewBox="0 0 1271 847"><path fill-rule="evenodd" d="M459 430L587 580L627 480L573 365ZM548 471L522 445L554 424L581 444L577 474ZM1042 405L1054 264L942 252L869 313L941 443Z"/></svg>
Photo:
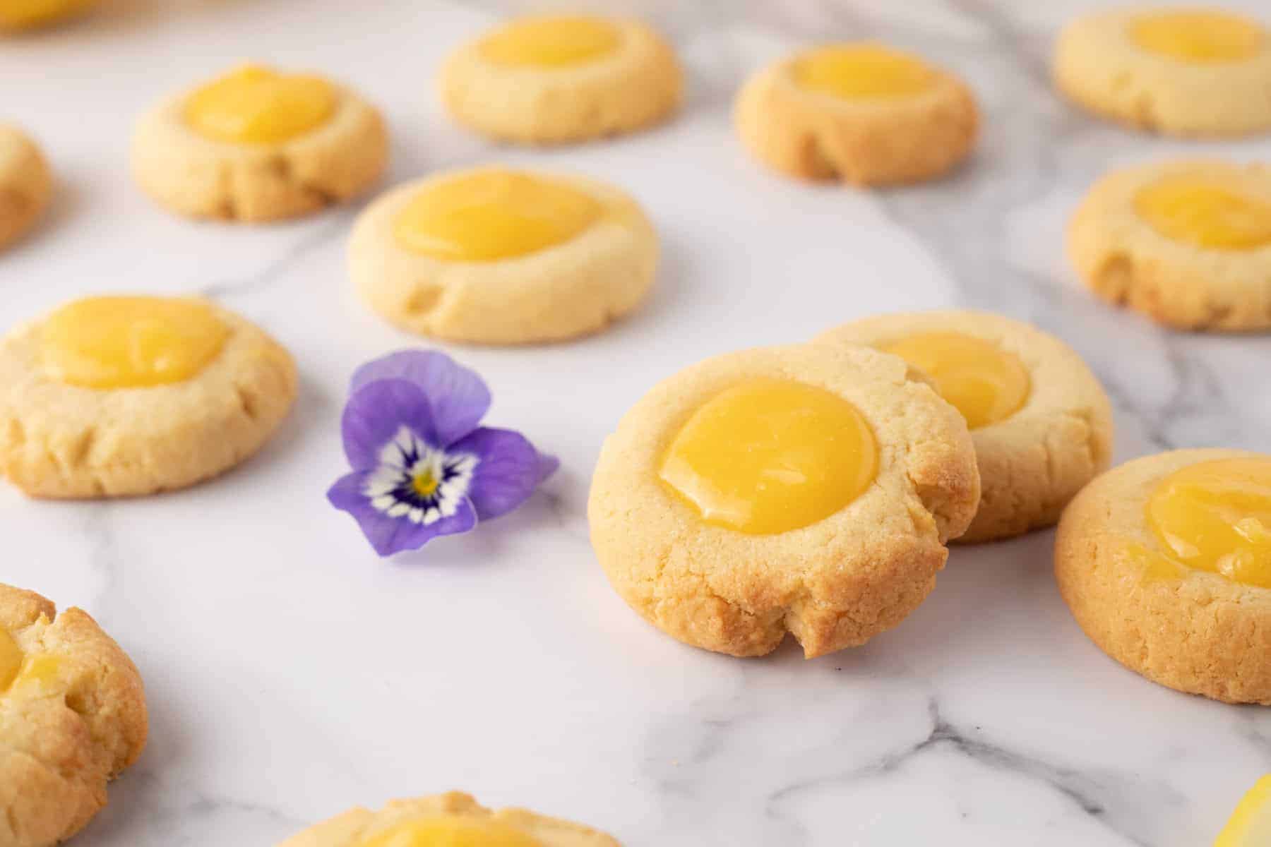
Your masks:
<svg viewBox="0 0 1271 847"><path fill-rule="evenodd" d="M610 590L587 542L601 439L646 389L878 311L966 305L1063 337L1115 399L1118 461L1271 451L1271 337L1158 329L1093 301L1064 259L1068 215L1110 166L1271 159L1271 140L1166 141L1060 102L1051 39L1094 5L611 4L675 37L688 107L644 135L549 152L463 132L432 88L449 48L527 3L119 0L0 44L3 117L39 138L61 182L39 234L0 258L0 324L89 292L201 292L268 328L301 370L280 436L211 484L85 504L0 486L0 579L89 610L146 681L149 749L74 844L267 846L355 804L452 787L633 847L1209 843L1271 771L1271 710L1178 695L1107 659L1056 593L1051 532L955 550L899 629L812 662L791 644L737 660L672 641ZM970 166L863 193L745 156L728 119L744 76L806 41L857 37L971 81L986 119ZM641 314L573 344L450 348L491 383L493 424L563 460L516 514L385 563L325 504L351 371L419 344L350 290L357 207L194 225L130 183L137 113L247 57L320 69L383 105L390 182L500 160L609 179L647 206L665 262Z"/></svg>

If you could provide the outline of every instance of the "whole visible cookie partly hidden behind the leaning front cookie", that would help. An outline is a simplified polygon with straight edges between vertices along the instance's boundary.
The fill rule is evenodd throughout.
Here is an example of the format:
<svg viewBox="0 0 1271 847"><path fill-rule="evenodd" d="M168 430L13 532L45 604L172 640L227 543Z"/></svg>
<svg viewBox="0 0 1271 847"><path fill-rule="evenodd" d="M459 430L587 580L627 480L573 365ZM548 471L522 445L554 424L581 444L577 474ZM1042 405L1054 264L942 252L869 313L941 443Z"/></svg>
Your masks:
<svg viewBox="0 0 1271 847"><path fill-rule="evenodd" d="M1059 521L1112 457L1112 406L1085 362L1036 326L977 311L880 315L822 334L902 357L971 429L980 508L960 542Z"/></svg>

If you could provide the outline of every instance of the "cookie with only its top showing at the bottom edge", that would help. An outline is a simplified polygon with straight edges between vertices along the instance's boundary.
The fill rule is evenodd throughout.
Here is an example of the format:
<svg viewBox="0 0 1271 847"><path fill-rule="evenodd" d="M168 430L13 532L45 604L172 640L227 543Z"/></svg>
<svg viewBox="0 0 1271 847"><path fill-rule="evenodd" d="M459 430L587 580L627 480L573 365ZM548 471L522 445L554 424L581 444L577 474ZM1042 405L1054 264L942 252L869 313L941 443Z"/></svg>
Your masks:
<svg viewBox="0 0 1271 847"><path fill-rule="evenodd" d="M286 839L278 847L620 847L590 827L526 809L486 809L460 791L394 800L379 811L352 809Z"/></svg>

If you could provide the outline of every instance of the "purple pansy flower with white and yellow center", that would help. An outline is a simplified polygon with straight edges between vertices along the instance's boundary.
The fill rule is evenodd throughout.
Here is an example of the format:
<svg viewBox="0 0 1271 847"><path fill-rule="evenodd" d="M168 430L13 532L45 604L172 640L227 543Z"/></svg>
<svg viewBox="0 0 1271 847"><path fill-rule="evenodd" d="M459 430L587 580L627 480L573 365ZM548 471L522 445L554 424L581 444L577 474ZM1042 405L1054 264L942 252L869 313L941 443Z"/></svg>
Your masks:
<svg viewBox="0 0 1271 847"><path fill-rule="evenodd" d="M436 350L400 350L353 373L341 429L352 474L327 499L381 556L511 512L561 462L511 429L479 427L489 389Z"/></svg>

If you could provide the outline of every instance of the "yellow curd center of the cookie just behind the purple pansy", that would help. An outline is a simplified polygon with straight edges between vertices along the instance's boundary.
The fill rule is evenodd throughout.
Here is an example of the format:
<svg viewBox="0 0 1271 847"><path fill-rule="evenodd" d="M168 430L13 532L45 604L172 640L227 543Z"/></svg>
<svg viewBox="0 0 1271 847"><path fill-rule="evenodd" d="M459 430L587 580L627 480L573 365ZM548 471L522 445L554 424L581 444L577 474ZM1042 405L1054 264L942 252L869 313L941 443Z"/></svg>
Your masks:
<svg viewBox="0 0 1271 847"><path fill-rule="evenodd" d="M426 188L398 215L393 231L413 253L451 262L494 262L568 241L602 207L562 183L492 169Z"/></svg>

